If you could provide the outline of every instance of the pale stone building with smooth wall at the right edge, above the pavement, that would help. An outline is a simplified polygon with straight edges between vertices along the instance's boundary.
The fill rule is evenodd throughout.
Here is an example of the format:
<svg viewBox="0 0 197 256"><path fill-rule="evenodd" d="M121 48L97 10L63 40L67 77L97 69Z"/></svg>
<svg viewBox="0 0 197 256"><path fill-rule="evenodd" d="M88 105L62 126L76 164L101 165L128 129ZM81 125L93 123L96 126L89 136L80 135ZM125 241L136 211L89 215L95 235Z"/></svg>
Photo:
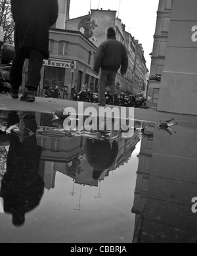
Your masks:
<svg viewBox="0 0 197 256"><path fill-rule="evenodd" d="M160 0L147 101L159 111L196 115L197 2Z"/></svg>

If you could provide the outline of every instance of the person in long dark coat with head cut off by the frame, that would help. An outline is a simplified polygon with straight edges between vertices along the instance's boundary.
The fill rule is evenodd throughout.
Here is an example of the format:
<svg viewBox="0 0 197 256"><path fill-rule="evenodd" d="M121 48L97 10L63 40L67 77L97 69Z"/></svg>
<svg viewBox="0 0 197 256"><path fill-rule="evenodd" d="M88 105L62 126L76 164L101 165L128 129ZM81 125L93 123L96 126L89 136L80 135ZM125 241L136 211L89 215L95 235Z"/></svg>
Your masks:
<svg viewBox="0 0 197 256"><path fill-rule="evenodd" d="M22 83L22 68L29 59L26 91L22 101L35 101L35 91L41 80L43 59L49 58L49 28L58 17L57 0L11 0L15 22L14 45L16 55L11 70L11 96L18 98Z"/></svg>

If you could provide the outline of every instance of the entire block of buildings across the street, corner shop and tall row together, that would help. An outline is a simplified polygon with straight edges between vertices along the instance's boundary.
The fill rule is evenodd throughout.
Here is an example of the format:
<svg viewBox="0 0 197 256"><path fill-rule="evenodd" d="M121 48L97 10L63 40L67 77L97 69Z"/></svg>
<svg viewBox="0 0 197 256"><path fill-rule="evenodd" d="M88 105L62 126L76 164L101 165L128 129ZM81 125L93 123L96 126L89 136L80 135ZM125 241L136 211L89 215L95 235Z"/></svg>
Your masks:
<svg viewBox="0 0 197 256"><path fill-rule="evenodd" d="M58 86L61 97L71 98L72 87L79 92L87 84L95 92L99 76L93 72L97 49L106 40L107 28L114 27L118 41L127 49L129 68L125 76L120 70L116 86L121 91L137 94L146 88L146 61L139 41L125 31L125 25L116 18L116 11L91 10L87 15L70 19L70 0L58 0L59 14L56 23L49 30L49 60L43 61L41 82L37 96L44 97L48 88ZM28 61L24 65L24 90L28 72Z"/></svg>

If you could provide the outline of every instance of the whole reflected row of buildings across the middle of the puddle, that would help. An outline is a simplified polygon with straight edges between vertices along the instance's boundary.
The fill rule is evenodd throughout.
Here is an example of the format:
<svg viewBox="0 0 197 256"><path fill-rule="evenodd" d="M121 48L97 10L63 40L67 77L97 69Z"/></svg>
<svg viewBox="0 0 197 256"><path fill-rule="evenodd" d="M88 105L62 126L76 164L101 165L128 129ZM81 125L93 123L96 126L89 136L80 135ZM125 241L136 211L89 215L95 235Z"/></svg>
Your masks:
<svg viewBox="0 0 197 256"><path fill-rule="evenodd" d="M46 118L45 118L46 120ZM50 118L49 118L50 120ZM43 122L42 122L43 124ZM122 138L121 132L114 131L111 134L114 142L108 139L95 139L87 136L58 136L58 133L50 134L52 127L38 126L37 141L43 147L40 164L40 174L45 177L47 189L55 187L56 171L70 176L75 184L99 186L99 181L109 176L111 170L116 170L127 163L135 145L140 140L141 123L137 123L137 130L132 138ZM113 153L117 144L117 153ZM114 147L114 149L113 149ZM94 151L95 156L91 155ZM100 155L99 153L103 153ZM114 157L114 159L113 159ZM101 161L102 160L102 161ZM96 163L98 162L98 166ZM99 168L98 168L99 167ZM98 170L99 169L99 170ZM72 192L74 193L74 192Z"/></svg>

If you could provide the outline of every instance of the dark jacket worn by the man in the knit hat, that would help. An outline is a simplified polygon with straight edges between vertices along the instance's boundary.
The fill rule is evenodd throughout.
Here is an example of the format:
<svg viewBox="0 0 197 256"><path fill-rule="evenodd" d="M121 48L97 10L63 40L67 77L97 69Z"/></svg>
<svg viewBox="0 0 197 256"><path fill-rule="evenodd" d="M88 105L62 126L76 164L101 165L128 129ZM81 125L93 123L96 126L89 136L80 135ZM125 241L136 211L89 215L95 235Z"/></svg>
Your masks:
<svg viewBox="0 0 197 256"><path fill-rule="evenodd" d="M95 72L99 69L118 71L121 66L121 73L127 72L128 56L125 46L116 38L108 38L101 43L95 56Z"/></svg>

